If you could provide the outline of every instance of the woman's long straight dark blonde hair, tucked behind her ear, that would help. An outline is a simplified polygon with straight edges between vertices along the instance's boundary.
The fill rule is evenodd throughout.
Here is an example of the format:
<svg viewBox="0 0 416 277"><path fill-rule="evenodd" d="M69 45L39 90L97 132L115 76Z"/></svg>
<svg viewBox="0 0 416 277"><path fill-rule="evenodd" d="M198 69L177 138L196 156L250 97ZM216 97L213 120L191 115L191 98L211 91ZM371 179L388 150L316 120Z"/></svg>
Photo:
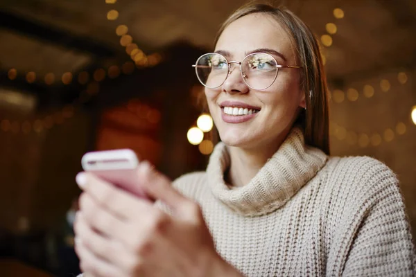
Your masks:
<svg viewBox="0 0 416 277"><path fill-rule="evenodd" d="M327 78L318 39L311 29L287 8L275 8L263 3L248 3L230 15L218 30L215 44L225 28L237 19L263 13L275 19L291 36L300 62L300 88L305 93L306 110L302 110L295 124L304 129L306 144L329 154L329 105Z"/></svg>

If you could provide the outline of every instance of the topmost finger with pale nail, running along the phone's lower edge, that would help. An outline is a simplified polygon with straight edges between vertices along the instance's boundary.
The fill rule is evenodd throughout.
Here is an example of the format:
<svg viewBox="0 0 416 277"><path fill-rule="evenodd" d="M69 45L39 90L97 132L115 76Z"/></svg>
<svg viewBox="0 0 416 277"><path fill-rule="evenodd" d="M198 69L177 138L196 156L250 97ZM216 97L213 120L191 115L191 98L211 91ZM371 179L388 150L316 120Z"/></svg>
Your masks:
<svg viewBox="0 0 416 277"><path fill-rule="evenodd" d="M148 200L136 197L89 173L78 173L77 182L82 184L80 186L83 187L85 193L91 195L100 206L105 207L122 220L132 218L137 211L146 213L153 206Z"/></svg>

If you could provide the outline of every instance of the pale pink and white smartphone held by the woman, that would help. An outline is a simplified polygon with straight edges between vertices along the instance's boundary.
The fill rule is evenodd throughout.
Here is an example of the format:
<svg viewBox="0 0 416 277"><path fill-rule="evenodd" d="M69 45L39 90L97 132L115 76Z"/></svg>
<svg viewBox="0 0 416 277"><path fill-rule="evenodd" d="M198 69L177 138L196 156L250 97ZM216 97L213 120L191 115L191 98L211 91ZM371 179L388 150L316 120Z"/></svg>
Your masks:
<svg viewBox="0 0 416 277"><path fill-rule="evenodd" d="M83 170L139 197L147 198L140 188L140 180L137 175L139 159L133 150L87 152L81 159L81 165Z"/></svg>

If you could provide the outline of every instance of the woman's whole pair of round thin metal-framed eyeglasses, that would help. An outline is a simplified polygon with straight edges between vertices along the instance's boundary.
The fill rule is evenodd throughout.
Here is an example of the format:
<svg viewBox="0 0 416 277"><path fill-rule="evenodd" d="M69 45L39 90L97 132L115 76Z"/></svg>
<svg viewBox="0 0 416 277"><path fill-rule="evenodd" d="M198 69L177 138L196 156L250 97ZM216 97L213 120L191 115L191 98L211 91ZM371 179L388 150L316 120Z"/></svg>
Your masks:
<svg viewBox="0 0 416 277"><path fill-rule="evenodd" d="M196 60L196 77L202 85L216 89L224 84L231 71L231 64L240 65L240 73L245 84L251 89L263 90L270 87L281 68L300 69L302 66L283 66L277 64L275 57L266 53L252 53L242 62L231 61L218 53L207 53Z"/></svg>

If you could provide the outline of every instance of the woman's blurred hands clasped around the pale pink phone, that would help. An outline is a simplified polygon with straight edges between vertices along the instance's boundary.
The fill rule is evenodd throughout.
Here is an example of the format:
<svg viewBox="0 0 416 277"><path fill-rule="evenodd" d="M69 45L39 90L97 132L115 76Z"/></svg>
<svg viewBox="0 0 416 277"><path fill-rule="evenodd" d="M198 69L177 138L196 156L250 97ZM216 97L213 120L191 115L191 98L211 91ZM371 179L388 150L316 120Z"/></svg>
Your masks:
<svg viewBox="0 0 416 277"><path fill-rule="evenodd" d="M94 175L77 176L80 211L76 216L76 252L80 267L94 277L229 276L198 204L178 193L171 181L150 168L137 170L146 194L171 209L164 213Z"/></svg>

